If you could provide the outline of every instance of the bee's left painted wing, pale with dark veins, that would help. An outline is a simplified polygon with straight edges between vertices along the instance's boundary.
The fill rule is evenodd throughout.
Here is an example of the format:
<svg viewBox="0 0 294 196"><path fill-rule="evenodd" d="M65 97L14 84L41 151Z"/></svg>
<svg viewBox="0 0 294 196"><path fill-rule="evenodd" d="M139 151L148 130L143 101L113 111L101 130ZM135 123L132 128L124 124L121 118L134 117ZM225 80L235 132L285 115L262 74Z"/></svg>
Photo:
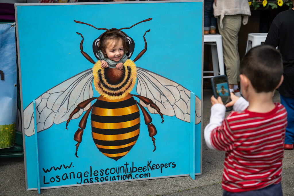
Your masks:
<svg viewBox="0 0 294 196"><path fill-rule="evenodd" d="M50 128L53 123L60 124L66 121L79 103L93 97L92 73L92 69L87 69L54 86L36 99L37 132ZM76 113L72 119L80 117L90 106L91 103ZM24 109L24 132L27 136L35 133L33 102Z"/></svg>

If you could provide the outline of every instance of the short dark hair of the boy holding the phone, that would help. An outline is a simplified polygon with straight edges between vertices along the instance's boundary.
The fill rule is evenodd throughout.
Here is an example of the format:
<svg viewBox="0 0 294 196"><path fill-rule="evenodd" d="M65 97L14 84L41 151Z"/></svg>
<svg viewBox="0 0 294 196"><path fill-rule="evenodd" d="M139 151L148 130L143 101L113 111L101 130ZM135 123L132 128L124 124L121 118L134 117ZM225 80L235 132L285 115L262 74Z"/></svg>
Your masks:
<svg viewBox="0 0 294 196"><path fill-rule="evenodd" d="M240 74L250 80L257 93L273 91L283 75L282 55L269 45L254 47L243 57Z"/></svg>

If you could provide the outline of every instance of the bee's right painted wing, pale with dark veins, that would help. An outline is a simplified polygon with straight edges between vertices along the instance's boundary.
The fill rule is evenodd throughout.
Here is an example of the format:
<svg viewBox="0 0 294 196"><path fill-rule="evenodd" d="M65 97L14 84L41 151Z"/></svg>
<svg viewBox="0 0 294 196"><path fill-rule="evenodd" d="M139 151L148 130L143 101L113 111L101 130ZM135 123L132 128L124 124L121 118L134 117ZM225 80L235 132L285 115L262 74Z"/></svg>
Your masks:
<svg viewBox="0 0 294 196"><path fill-rule="evenodd" d="M180 84L161 75L137 67L137 88L139 95L150 98L161 113L174 116L190 122L190 91ZM150 113L157 114L156 110L140 100L141 105L147 107ZM195 123L201 121L201 100L196 96Z"/></svg>

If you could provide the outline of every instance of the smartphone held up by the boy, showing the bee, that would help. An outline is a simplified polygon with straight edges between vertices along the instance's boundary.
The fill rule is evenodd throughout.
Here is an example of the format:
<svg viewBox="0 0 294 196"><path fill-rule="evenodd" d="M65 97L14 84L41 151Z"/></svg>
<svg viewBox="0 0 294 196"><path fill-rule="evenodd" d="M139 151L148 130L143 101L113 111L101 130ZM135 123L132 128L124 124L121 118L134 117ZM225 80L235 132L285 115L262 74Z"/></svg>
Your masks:
<svg viewBox="0 0 294 196"><path fill-rule="evenodd" d="M213 95L216 99L221 97L224 104L227 104L231 101L229 83L226 75L213 76L211 78L211 86ZM233 110L233 106L228 108L226 107L225 111L228 112L231 110Z"/></svg>

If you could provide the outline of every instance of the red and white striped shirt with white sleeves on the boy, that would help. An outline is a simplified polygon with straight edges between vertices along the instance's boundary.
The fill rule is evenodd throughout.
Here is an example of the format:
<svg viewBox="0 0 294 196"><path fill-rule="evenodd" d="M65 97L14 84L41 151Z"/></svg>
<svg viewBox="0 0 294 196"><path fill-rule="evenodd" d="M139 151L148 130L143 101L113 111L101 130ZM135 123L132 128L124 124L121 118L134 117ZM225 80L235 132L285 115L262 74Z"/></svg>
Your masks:
<svg viewBox="0 0 294 196"><path fill-rule="evenodd" d="M237 102L248 103L244 98ZM224 118L225 108L221 104L215 105L211 108L210 123L204 134L208 147L226 151L223 189L243 192L279 183L287 126L284 106L275 103L275 108L268 113L233 111L220 121Z"/></svg>

